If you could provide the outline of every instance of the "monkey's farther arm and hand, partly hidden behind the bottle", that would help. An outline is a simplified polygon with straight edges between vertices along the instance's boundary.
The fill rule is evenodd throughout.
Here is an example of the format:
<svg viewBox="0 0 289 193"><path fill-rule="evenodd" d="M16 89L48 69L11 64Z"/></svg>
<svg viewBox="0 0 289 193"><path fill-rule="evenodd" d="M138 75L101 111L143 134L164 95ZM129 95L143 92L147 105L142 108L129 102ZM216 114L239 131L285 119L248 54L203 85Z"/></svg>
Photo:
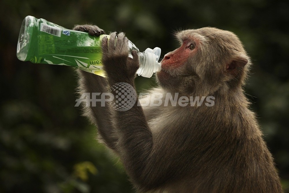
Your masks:
<svg viewBox="0 0 289 193"><path fill-rule="evenodd" d="M88 32L90 35L100 36L105 34L104 30L100 29L98 26L90 25L76 25L73 30ZM85 72L83 70L77 71L79 74L79 92L83 93L105 93L108 92L107 86L108 82L105 78L92 74L90 72ZM96 99L100 99L101 94L96 96ZM90 102L88 102L90 104ZM101 140L105 144L116 150L116 141L118 140L115 132L114 126L111 122L111 110L109 105L101 106L101 103L97 102L96 106L89 105L89 107L84 106L84 114L89 117L90 121L97 125L98 132L100 134Z"/></svg>

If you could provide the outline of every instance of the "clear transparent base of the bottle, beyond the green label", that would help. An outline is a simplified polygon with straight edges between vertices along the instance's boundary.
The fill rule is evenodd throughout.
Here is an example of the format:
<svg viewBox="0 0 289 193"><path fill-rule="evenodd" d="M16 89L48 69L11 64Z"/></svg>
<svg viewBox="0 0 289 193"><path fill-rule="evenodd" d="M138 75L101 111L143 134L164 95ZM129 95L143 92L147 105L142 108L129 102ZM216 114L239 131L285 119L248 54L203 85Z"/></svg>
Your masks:
<svg viewBox="0 0 289 193"><path fill-rule="evenodd" d="M29 28L29 26L33 25L34 18L32 16L25 17L21 25L16 50L17 58L21 61L25 61L27 57L29 50L29 37L32 35L33 30L33 28Z"/></svg>

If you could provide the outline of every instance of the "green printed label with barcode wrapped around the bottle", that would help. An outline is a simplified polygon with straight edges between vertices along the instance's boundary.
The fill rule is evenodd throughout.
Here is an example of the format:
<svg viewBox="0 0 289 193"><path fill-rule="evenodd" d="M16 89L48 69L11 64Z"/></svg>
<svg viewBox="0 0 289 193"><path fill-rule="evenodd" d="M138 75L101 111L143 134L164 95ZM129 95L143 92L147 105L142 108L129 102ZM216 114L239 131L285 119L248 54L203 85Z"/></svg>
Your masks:
<svg viewBox="0 0 289 193"><path fill-rule="evenodd" d="M29 49L25 61L68 65L103 75L100 37L65 29L44 19L37 19L29 29Z"/></svg>

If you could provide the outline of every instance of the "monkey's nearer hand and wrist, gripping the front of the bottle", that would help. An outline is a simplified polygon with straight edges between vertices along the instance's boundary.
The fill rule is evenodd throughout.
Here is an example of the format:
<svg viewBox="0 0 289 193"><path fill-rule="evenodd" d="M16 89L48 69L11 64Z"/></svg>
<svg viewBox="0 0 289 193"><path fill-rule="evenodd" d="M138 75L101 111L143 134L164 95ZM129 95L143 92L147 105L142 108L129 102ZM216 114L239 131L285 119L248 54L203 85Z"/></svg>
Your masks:
<svg viewBox="0 0 289 193"><path fill-rule="evenodd" d="M133 58L128 57L128 39L124 33L110 34L110 39L102 39L102 62L110 85L126 82L133 85L136 71L139 68L136 50L131 52Z"/></svg>

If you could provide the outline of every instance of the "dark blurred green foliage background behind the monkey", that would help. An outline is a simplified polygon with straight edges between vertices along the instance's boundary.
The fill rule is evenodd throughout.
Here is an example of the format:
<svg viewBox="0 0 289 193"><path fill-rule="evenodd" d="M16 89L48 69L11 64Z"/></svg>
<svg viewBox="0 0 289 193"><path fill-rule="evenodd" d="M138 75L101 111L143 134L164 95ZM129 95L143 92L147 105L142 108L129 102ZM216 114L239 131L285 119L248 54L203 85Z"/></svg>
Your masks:
<svg viewBox="0 0 289 193"><path fill-rule="evenodd" d="M289 3L236 1L1 1L0 192L134 192L121 163L75 108L72 68L16 58L27 15L72 28L123 31L142 51L177 48L173 33L212 26L236 33L252 58L245 87L289 192ZM138 89L154 79L136 78Z"/></svg>

